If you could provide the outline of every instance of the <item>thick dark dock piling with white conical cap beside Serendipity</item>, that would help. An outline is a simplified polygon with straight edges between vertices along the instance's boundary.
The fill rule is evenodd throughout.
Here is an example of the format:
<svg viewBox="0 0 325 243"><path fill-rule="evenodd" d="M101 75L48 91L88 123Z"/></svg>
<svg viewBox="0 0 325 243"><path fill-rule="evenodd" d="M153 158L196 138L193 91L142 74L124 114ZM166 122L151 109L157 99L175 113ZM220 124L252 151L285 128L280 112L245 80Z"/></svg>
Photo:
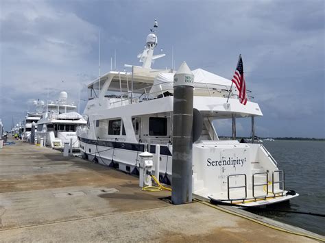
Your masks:
<svg viewBox="0 0 325 243"><path fill-rule="evenodd" d="M173 164L171 201L192 202L194 75L183 62L173 77Z"/></svg>

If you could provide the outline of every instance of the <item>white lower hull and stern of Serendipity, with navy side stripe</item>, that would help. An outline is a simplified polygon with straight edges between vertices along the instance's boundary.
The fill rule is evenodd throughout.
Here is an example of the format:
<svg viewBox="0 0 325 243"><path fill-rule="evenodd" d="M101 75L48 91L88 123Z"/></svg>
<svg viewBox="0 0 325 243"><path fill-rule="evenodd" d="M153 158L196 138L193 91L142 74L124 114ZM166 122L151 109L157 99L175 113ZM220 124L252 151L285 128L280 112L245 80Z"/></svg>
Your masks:
<svg viewBox="0 0 325 243"><path fill-rule="evenodd" d="M145 150L155 153L154 145L145 148L146 144L91 140L80 136L78 139L80 140L80 151L84 158L130 174L136 174L139 170L140 153ZM232 146L236 146L231 150L236 155L235 159L232 159L234 155L225 152L230 151ZM166 149L160 149L162 152L160 153L160 181L170 183L172 155L168 146L161 147ZM270 182L271 179L267 179L263 184L263 178L259 177L261 168L257 170L256 164L252 162L255 160L252 157L258 156L260 162L263 163L266 155L263 157L261 153L264 153L261 144L239 144L234 141L206 141L193 144L193 194L204 199L213 199L240 207L261 207L288 201L298 196L298 194L287 194L286 190L280 188L277 183L280 181L280 176L274 174L275 172L274 175L269 172L274 184L272 185ZM225 159L223 167L219 166L223 163L222 160L210 159L211 157L226 156L227 159ZM247 163L245 164L245 162ZM272 166L266 166L267 171L278 171L275 164ZM264 173L267 175L268 172ZM245 175L245 181L241 179L241 175ZM228 179L232 177L234 178ZM252 177L254 177L255 182L252 181ZM266 184L268 185L266 186ZM234 185L246 186L245 188L236 188Z"/></svg>

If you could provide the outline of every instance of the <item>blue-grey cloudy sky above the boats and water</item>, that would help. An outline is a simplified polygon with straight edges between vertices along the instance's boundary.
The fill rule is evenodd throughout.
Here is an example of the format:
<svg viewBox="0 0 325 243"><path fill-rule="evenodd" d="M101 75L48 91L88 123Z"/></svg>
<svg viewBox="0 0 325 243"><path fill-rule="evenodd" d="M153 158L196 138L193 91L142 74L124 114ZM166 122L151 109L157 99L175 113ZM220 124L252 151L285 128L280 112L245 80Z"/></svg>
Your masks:
<svg viewBox="0 0 325 243"><path fill-rule="evenodd" d="M324 138L324 1L0 1L0 118L9 129L33 99L56 99L61 90L77 102L101 72L139 64L145 37L158 19L154 68L204 68L231 79L239 53L246 86L264 116L258 136ZM160 49L159 48L159 49ZM159 51L158 51L159 52ZM82 109L85 102L82 101ZM230 123L217 124L230 135ZM249 120L237 121L239 136Z"/></svg>

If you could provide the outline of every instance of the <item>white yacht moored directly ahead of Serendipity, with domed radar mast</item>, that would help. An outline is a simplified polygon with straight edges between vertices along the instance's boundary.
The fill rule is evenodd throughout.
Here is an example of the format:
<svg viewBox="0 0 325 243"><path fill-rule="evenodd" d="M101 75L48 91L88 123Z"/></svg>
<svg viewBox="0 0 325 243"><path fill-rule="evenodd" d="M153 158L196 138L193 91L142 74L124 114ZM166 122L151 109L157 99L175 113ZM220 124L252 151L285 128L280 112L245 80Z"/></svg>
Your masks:
<svg viewBox="0 0 325 243"><path fill-rule="evenodd" d="M58 101L49 101L43 107L43 114L37 123L36 139L40 143L44 138L45 145L53 149L62 149L64 142L73 140L73 149L79 149L75 135L77 126L86 125L86 120L76 112L77 107L67 103L67 92L60 92Z"/></svg>

